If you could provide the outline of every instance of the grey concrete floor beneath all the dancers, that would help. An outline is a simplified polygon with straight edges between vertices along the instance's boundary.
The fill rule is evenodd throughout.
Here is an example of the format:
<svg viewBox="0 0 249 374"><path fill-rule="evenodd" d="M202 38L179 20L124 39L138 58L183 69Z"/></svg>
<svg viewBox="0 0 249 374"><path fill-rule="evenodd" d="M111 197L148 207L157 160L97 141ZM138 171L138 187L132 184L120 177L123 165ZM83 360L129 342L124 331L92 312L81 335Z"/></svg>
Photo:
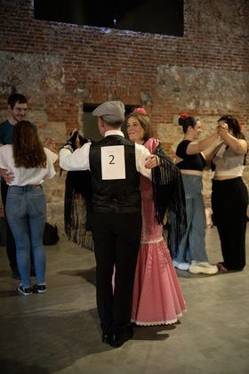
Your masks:
<svg viewBox="0 0 249 374"><path fill-rule="evenodd" d="M178 272L188 308L181 321L136 328L114 349L100 342L93 253L60 237L46 247L44 295L16 295L0 248L1 374L249 373L248 265L213 276ZM221 260L215 227L206 247L212 263Z"/></svg>

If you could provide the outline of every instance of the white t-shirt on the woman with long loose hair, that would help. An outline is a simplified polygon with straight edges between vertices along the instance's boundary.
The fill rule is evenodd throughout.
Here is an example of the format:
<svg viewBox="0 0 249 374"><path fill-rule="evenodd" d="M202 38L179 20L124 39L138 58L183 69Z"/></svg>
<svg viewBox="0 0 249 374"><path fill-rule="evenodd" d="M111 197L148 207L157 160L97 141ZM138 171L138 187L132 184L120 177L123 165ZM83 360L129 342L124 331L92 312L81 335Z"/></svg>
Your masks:
<svg viewBox="0 0 249 374"><path fill-rule="evenodd" d="M55 175L53 164L58 156L47 148L44 148L44 152L47 158L46 167L15 167L12 144L0 147L0 167L14 174L14 180L9 185L41 184L44 183L44 177L51 179Z"/></svg>

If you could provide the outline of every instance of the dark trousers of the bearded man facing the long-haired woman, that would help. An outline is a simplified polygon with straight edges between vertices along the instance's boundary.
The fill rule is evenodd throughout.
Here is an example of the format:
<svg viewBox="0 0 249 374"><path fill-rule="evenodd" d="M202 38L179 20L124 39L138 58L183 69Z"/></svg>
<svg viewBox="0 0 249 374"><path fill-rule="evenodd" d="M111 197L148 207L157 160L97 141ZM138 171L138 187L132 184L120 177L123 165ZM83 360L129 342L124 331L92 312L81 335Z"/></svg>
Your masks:
<svg viewBox="0 0 249 374"><path fill-rule="evenodd" d="M5 205L6 205L8 188L9 188L8 184L2 179L1 180L1 197L2 197L3 206L4 206L5 218L6 218ZM7 219L6 219L6 252L7 252L7 256L8 256L12 270L14 271L17 270L15 240L13 238L12 231L10 229Z"/></svg>

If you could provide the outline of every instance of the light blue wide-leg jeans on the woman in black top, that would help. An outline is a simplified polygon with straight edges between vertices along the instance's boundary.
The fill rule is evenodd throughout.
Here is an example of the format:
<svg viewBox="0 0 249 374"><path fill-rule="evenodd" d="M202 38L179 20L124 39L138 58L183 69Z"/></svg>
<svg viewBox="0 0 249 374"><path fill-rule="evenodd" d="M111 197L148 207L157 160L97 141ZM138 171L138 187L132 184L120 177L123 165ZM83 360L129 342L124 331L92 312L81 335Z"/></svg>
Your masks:
<svg viewBox="0 0 249 374"><path fill-rule="evenodd" d="M205 252L205 204L202 196L202 176L182 175L184 184L187 231L184 234L178 255L175 260L179 263L186 261L207 262Z"/></svg>

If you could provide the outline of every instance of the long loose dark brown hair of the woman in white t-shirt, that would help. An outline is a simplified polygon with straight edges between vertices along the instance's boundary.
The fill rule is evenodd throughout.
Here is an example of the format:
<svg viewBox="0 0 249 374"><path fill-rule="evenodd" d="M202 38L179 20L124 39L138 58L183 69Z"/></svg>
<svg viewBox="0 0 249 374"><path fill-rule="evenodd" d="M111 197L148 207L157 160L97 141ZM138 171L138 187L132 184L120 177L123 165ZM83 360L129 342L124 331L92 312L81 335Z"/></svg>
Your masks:
<svg viewBox="0 0 249 374"><path fill-rule="evenodd" d="M15 167L46 167L44 147L31 122L20 121L14 126L12 148Z"/></svg>

